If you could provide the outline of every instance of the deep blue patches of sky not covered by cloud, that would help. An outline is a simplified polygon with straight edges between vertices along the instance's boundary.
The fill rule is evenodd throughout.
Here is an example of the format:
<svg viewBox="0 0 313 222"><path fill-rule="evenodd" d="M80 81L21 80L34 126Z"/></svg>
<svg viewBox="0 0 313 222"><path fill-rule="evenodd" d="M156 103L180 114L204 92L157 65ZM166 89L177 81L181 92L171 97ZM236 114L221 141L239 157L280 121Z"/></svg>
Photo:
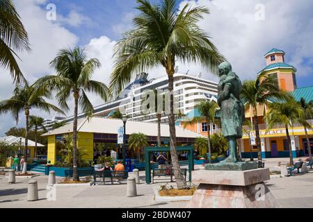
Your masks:
<svg viewBox="0 0 313 222"><path fill-rule="evenodd" d="M160 0L152 0L152 2L160 2ZM69 31L79 37L78 44L80 46L88 44L90 39L101 37L103 35L109 37L111 40L119 40L122 32L131 28L131 18L137 13L135 9L136 1L132 0L51 0L49 3L54 3L56 5L58 15L61 14L62 16L66 16L74 10L81 15L88 17L88 22L82 26L75 27L63 24L63 26ZM42 8L45 9L45 4L42 5ZM311 17L312 15L307 12L309 11L302 11L301 16L307 18ZM290 16L298 15L291 14ZM268 33L268 35L275 35L275 33ZM292 38L292 36L286 37ZM280 46L277 44L273 44L273 48L274 47L280 49ZM264 52L268 49L270 48L264 49ZM281 49L287 51L286 61L290 61L291 56L293 55L292 48L289 51L289 47L282 46ZM302 65L312 69L312 58L304 58ZM305 87L307 85L313 85L313 79L310 74L305 74L297 78L297 83L298 87Z"/></svg>

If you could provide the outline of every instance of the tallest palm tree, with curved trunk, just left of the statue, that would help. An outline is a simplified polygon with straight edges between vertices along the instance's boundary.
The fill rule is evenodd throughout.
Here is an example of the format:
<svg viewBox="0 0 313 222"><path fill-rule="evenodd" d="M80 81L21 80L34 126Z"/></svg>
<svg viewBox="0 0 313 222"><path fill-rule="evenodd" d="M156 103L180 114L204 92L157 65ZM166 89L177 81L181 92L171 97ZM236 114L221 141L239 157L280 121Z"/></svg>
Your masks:
<svg viewBox="0 0 313 222"><path fill-rule="evenodd" d="M131 77L145 69L161 65L168 74L170 91L170 155L178 189L186 187L186 181L179 167L174 98L175 62L195 62L213 73L224 60L223 56L209 40L209 36L198 26L202 15L209 13L204 7L191 8L187 3L177 10L178 0L162 0L151 4L147 0L137 0L141 14L134 17L134 30L125 33L115 46L115 64L111 74L110 88L118 94Z"/></svg>

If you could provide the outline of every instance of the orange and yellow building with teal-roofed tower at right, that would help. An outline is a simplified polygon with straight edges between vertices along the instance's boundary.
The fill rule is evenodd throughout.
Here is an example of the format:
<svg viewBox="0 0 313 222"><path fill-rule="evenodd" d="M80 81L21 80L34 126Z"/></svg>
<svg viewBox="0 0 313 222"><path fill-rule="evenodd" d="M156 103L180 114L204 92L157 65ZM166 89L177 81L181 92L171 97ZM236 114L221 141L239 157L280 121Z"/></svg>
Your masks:
<svg viewBox="0 0 313 222"><path fill-rule="evenodd" d="M291 92L297 101L301 98L305 101L313 100L313 86L297 88L296 85L296 68L285 63L284 51L279 49L272 49L264 56L266 60L266 67L262 70L266 75L275 75L278 79L278 85L280 89L284 89L287 92ZM261 71L259 72L261 73ZM271 103L271 101L268 101ZM284 126L277 124L272 129L268 130L264 116L268 112L267 106L258 105L257 117L259 121L262 157L289 157L289 145L287 141L287 135ZM246 106L245 110L246 119L252 121L254 117L254 110ZM193 110L187 114L187 117L200 117L198 110ZM313 120L307 120L313 127ZM183 124L182 124L183 125ZM188 130L193 130L196 133L207 135L207 128L203 119L202 123L193 123L186 126ZM209 127L210 133L221 133L222 130L218 129L216 125L211 124ZM313 131L307 130L310 138L310 144L307 144L304 128L296 123L294 128L289 128L289 134L291 136L291 150L294 157L308 155L308 148L311 148L313 153ZM248 126L243 126L243 139L240 140L241 156L243 158L257 157L257 146L250 145L250 138L255 138L255 130L250 130ZM252 139L253 140L253 139Z"/></svg>

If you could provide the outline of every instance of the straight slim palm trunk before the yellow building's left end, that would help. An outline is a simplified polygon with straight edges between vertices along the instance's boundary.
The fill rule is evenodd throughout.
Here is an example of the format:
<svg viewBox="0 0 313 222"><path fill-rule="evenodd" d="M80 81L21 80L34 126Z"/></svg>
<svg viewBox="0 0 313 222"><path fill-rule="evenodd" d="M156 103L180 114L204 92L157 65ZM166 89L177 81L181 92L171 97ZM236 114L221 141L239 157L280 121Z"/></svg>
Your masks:
<svg viewBox="0 0 313 222"><path fill-rule="evenodd" d="M74 122L73 122L73 180L79 181L77 169L77 115L78 115L79 92L74 92Z"/></svg>

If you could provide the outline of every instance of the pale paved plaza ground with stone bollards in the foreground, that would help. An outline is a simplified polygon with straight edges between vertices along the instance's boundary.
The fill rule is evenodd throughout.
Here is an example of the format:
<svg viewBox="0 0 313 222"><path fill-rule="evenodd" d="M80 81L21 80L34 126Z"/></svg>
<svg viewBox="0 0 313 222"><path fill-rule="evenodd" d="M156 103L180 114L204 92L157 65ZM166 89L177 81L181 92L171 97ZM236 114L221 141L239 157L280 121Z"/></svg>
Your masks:
<svg viewBox="0 0 313 222"><path fill-rule="evenodd" d="M288 162L288 159L265 160L268 167L275 169L278 162ZM195 170L198 170L196 166ZM35 176L38 180L39 200L28 202L27 186L31 179L17 178L17 182L8 185L8 178L0 176L0 207L185 207L187 202L157 203L154 200L154 189L165 185L163 178L157 178L153 185L145 185L144 171L140 172L141 184L137 185L138 196L126 197L126 182L111 185L107 180L106 185L89 185L56 187L56 200L47 200L47 180L44 175ZM130 173L131 175L131 173ZM62 178L57 178L57 182ZM171 185L175 185L172 183ZM313 207L313 170L308 173L294 174L291 177L272 178L266 182L268 189L278 200L280 207Z"/></svg>

